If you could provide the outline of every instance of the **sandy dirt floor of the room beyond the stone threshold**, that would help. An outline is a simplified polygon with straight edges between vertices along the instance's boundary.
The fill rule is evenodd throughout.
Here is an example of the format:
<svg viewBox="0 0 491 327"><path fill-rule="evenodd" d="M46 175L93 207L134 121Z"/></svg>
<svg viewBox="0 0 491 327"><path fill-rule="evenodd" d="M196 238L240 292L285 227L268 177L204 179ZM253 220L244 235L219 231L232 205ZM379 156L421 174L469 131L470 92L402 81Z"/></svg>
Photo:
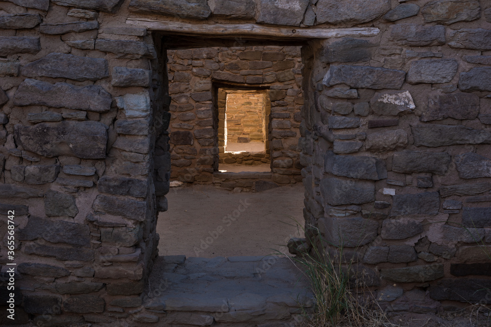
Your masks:
<svg viewBox="0 0 491 327"><path fill-rule="evenodd" d="M233 193L213 185L173 187L166 196L169 210L157 223L159 255L211 258L287 252L291 237L303 237L303 193L301 183L257 193Z"/></svg>

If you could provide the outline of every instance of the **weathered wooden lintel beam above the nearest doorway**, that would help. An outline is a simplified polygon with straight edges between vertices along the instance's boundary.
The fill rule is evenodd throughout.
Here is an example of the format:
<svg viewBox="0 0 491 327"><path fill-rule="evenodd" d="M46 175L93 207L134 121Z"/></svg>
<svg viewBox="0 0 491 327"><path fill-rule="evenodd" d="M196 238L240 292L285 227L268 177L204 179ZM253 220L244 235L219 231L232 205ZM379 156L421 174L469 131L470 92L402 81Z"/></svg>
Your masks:
<svg viewBox="0 0 491 327"><path fill-rule="evenodd" d="M272 27L258 24L189 24L181 22L167 22L147 18L128 18L127 24L146 27L149 30L158 30L187 35L226 37L226 36L253 36L253 37L280 37L295 39L328 39L343 36L375 36L379 34L377 27L349 27L349 28L321 28L321 27Z"/></svg>

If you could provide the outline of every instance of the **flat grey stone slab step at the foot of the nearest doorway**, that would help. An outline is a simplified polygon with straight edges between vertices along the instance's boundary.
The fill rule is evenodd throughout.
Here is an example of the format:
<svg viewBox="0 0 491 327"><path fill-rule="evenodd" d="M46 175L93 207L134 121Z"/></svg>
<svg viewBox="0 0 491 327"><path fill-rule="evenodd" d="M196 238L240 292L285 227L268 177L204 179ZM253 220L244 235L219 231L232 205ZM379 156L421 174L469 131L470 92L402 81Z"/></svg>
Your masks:
<svg viewBox="0 0 491 327"><path fill-rule="evenodd" d="M302 272L280 256L161 256L150 293L153 285L164 289L145 311L169 326L282 326L314 303Z"/></svg>

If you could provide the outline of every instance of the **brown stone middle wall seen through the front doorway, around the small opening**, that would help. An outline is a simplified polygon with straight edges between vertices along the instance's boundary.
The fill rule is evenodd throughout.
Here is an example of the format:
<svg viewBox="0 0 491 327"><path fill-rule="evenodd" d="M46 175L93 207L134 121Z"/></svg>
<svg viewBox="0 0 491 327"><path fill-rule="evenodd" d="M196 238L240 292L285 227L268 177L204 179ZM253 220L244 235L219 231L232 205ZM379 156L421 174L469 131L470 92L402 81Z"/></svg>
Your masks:
<svg viewBox="0 0 491 327"><path fill-rule="evenodd" d="M219 129L223 128L219 120L223 120L224 115L213 114L222 107L219 92L212 92L212 86L218 83L217 88L225 84L227 88L270 89L271 115L267 127L270 133L266 144L271 147L273 181L287 184L301 180L298 150L303 105L300 47L205 48L168 50L167 54L172 97L171 178L186 182L213 181L219 153L224 152L223 140L219 137Z"/></svg>

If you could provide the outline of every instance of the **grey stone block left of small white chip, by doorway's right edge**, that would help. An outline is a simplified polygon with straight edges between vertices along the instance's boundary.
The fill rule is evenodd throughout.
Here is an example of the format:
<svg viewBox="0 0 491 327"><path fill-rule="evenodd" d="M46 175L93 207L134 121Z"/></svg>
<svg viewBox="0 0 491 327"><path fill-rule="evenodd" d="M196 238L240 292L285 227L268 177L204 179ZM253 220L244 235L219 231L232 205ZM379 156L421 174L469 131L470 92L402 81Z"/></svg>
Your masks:
<svg viewBox="0 0 491 327"><path fill-rule="evenodd" d="M375 201L375 184L328 177L321 181L321 194L330 205L363 204Z"/></svg>

